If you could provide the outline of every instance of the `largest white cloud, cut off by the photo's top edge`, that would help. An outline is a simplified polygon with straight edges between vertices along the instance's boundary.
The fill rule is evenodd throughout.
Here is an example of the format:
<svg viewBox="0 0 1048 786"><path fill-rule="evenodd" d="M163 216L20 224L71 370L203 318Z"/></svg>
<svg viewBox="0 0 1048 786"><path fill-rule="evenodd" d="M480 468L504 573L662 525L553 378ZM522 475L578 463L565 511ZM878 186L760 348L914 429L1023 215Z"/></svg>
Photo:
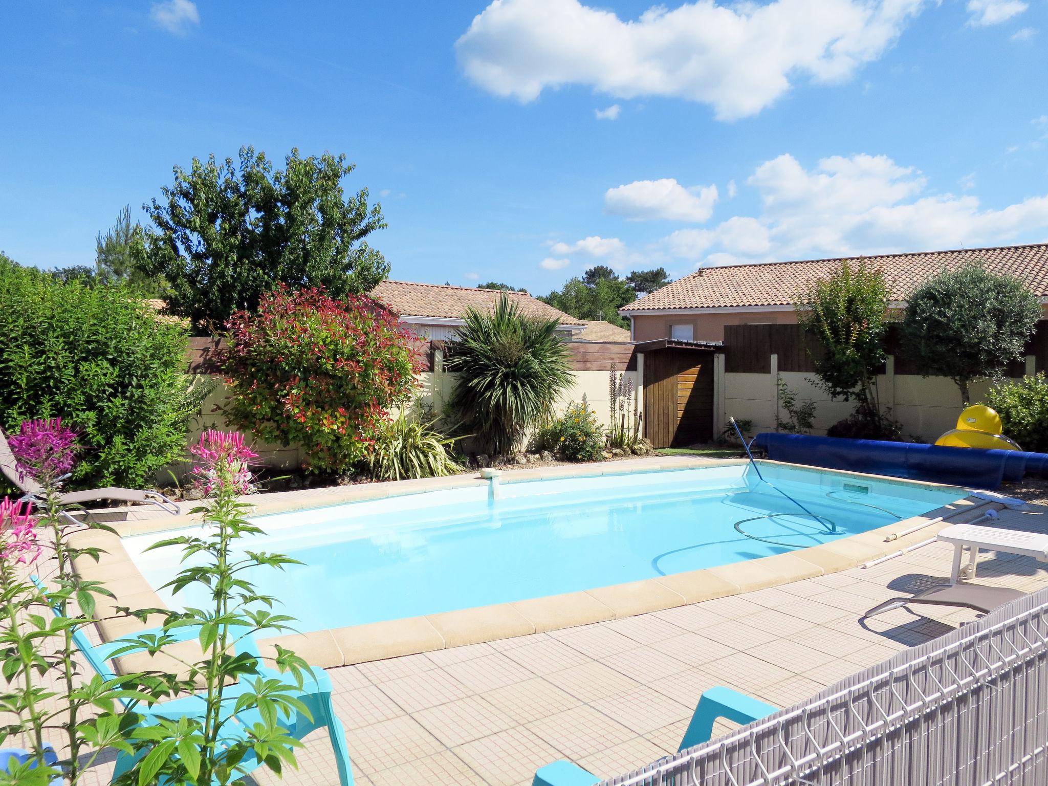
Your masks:
<svg viewBox="0 0 1048 786"><path fill-rule="evenodd" d="M708 104L719 119L734 119L760 112L800 78L851 78L926 2L698 0L624 21L578 0L494 0L455 46L468 79L522 103L585 85L620 99Z"/></svg>

